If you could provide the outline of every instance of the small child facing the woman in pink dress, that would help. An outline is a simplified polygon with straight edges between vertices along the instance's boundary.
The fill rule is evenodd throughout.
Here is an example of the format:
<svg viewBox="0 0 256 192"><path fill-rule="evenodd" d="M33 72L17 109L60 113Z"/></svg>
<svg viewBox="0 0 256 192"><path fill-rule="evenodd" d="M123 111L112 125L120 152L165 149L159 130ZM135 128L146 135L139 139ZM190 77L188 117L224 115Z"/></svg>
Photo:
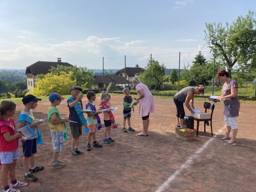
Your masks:
<svg viewBox="0 0 256 192"><path fill-rule="evenodd" d="M124 88L123 94L124 94L123 102L125 102L127 106L130 106L133 102L133 99L130 95L129 88ZM132 108L133 108L133 113L134 113L134 107L132 106ZM131 127L131 115L132 115L132 109L123 107L123 132L124 133L127 133L126 128L125 128L126 119L128 121L128 126L129 126L128 130L131 132L135 132L135 130Z"/></svg>

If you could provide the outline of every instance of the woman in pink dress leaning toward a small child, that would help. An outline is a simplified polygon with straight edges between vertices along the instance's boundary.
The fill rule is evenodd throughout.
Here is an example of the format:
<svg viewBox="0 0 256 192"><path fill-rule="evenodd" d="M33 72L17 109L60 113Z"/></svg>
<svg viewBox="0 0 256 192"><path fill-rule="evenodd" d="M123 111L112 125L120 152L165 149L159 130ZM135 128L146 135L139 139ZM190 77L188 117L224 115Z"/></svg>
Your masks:
<svg viewBox="0 0 256 192"><path fill-rule="evenodd" d="M137 134L137 136L148 136L147 130L150 125L150 113L155 113L155 101L148 87L140 83L138 77L134 77L132 80L133 87L137 90L138 97L136 100L139 104L139 116L142 117L143 132Z"/></svg>

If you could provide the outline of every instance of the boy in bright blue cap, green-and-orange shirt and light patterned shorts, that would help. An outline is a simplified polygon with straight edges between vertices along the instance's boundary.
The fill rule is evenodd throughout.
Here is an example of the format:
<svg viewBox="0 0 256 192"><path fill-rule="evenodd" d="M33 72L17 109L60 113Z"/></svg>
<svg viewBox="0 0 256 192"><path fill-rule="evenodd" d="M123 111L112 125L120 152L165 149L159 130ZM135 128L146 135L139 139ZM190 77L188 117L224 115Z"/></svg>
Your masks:
<svg viewBox="0 0 256 192"><path fill-rule="evenodd" d="M65 122L69 122L69 119L62 119L61 115L56 108L57 105L64 100L58 93L52 93L49 95L49 101L51 101L51 106L48 109L48 123L52 135L52 145L53 145L53 162L52 168L61 168L66 164L63 161L58 160L59 152L63 150L63 126L66 127Z"/></svg>

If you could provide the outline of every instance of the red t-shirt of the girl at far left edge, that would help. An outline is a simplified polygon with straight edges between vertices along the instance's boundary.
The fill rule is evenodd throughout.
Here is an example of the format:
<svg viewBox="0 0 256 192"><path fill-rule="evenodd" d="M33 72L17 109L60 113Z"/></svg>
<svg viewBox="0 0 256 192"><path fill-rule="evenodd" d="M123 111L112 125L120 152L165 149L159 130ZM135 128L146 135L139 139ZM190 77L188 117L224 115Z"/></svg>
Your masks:
<svg viewBox="0 0 256 192"><path fill-rule="evenodd" d="M2 119L1 121L7 121L7 123L10 123L10 126L2 125L0 126L0 152L11 152L15 151L18 148L18 139L14 139L10 142L5 140L4 133L9 132L10 135L14 135L16 133L16 126L15 122L12 118L10 118L10 121Z"/></svg>

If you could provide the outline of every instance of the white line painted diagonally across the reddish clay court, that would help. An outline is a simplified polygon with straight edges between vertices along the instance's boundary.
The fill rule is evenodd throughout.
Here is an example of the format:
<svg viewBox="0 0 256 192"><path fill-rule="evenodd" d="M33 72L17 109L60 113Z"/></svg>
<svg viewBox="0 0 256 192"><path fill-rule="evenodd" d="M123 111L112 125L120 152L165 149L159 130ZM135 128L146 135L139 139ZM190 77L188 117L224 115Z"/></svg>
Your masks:
<svg viewBox="0 0 256 192"><path fill-rule="evenodd" d="M194 155L191 155L184 164L182 164L180 166L180 168L178 170L176 170L176 172L171 175L157 190L156 192L162 192L162 191L165 191L167 189L167 187L169 186L170 182L172 182L177 176L180 175L180 173L188 168L192 163L193 161L205 150L205 148L207 148L207 146L209 145L209 143L211 141L213 141L214 139L216 139L216 135L218 135L224 128L225 126L223 126L218 132L217 134L214 135L214 137L210 138L208 141L206 141L204 143L204 145L199 148L199 150L194 154Z"/></svg>

